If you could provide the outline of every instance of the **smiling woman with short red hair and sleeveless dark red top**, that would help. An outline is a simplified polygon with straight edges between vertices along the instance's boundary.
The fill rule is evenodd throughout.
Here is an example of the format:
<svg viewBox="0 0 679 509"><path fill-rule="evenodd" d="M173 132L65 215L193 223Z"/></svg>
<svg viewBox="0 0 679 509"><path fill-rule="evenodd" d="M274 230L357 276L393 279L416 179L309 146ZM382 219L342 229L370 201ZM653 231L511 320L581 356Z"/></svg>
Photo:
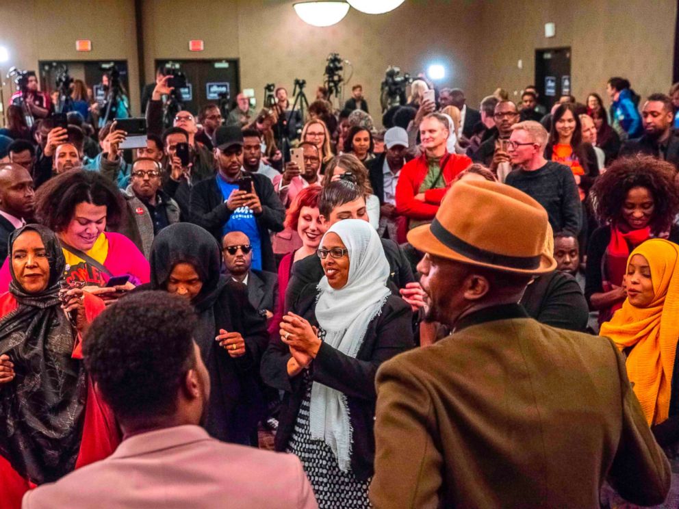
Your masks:
<svg viewBox="0 0 679 509"><path fill-rule="evenodd" d="M278 332L279 324L285 314L285 290L290 281L292 265L309 256L315 256L320 239L326 231L326 226L318 211L318 201L322 187L312 185L305 187L295 197L285 216L285 227L296 231L302 239L302 247L291 251L281 259L278 267L278 303L274 316L270 321L269 333Z"/></svg>

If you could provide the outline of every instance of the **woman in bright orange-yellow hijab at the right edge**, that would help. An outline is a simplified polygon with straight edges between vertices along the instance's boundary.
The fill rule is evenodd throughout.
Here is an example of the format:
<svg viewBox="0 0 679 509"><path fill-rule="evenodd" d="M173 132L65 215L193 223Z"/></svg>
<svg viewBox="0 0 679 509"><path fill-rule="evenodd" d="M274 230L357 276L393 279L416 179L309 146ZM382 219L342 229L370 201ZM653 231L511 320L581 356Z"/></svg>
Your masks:
<svg viewBox="0 0 679 509"><path fill-rule="evenodd" d="M663 508L679 507L679 245L650 239L632 251L624 285L627 299L600 335L626 352L627 375L646 421L672 465Z"/></svg>

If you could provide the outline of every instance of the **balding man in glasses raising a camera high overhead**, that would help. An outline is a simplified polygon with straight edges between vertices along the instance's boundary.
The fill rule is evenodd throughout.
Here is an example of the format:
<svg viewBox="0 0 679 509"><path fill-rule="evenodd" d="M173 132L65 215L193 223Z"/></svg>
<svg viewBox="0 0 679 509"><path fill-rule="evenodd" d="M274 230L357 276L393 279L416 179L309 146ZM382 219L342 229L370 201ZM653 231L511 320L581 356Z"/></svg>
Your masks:
<svg viewBox="0 0 679 509"><path fill-rule="evenodd" d="M146 106L146 132L155 135L163 134L163 103L162 96L169 96L174 90L168 86L171 75L164 76L157 81L151 101ZM187 111L178 112L173 120L173 127L181 128L188 135L190 151L190 166L192 178L207 179L214 175L214 155L202 143L196 141L198 125L196 119ZM179 204L181 206L181 203Z"/></svg>

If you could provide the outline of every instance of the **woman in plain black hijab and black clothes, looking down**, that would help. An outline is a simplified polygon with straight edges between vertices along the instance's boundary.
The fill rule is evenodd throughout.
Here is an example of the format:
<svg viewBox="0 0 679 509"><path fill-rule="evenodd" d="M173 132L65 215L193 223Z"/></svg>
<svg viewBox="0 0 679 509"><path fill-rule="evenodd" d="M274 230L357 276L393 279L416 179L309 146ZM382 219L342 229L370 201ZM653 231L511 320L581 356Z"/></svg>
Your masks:
<svg viewBox="0 0 679 509"><path fill-rule="evenodd" d="M257 422L266 406L259 359L266 321L248 302L245 285L220 274L219 246L189 223L163 229L151 246L151 288L186 296L198 313L194 339L210 374L205 428L216 439L257 446Z"/></svg>

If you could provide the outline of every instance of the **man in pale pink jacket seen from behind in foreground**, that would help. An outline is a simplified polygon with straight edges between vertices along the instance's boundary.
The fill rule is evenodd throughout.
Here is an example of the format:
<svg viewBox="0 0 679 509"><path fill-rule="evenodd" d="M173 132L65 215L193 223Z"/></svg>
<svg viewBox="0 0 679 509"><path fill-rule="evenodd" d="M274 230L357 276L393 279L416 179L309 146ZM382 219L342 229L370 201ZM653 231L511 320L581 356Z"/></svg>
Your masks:
<svg viewBox="0 0 679 509"><path fill-rule="evenodd" d="M165 291L131 294L94 320L85 363L123 443L29 491L24 509L318 508L296 456L223 443L200 427L210 387L197 325L188 299Z"/></svg>

